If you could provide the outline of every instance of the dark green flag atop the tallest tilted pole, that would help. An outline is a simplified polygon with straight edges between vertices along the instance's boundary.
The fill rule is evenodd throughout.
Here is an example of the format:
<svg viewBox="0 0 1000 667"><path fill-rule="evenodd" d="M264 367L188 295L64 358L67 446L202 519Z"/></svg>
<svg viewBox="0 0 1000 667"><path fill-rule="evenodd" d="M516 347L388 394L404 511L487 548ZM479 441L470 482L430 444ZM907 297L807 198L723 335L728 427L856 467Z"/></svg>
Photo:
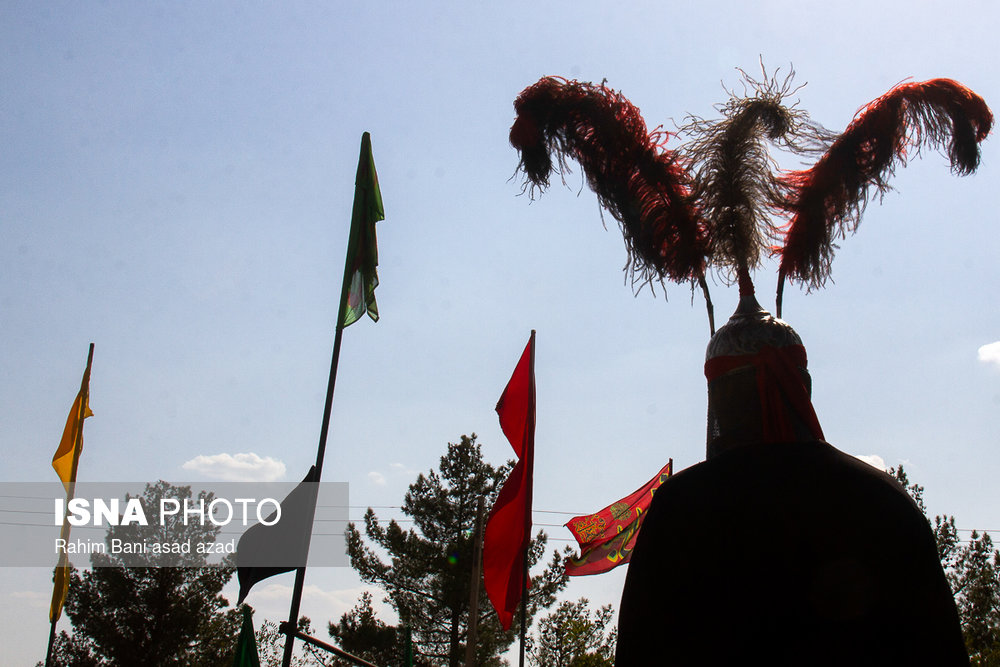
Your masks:
<svg viewBox="0 0 1000 667"><path fill-rule="evenodd" d="M350 280L350 287L347 303L342 308L341 327L354 324L365 312L373 321L378 321L378 306L375 303L375 288L378 287L375 222L378 220L385 220L385 211L378 188L378 174L375 173L375 159L372 157L371 135L365 132L361 135L361 157L354 180L354 208L344 276L345 281Z"/></svg>

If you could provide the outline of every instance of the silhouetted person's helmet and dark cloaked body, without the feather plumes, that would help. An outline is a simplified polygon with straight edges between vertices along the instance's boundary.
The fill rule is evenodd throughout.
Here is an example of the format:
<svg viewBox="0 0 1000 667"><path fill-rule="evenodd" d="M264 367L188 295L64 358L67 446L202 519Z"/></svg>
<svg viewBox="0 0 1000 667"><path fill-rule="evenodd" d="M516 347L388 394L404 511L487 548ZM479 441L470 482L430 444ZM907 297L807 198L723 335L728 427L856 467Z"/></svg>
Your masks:
<svg viewBox="0 0 1000 667"><path fill-rule="evenodd" d="M967 665L927 520L823 440L798 335L744 297L707 357L707 460L653 498L616 666Z"/></svg>

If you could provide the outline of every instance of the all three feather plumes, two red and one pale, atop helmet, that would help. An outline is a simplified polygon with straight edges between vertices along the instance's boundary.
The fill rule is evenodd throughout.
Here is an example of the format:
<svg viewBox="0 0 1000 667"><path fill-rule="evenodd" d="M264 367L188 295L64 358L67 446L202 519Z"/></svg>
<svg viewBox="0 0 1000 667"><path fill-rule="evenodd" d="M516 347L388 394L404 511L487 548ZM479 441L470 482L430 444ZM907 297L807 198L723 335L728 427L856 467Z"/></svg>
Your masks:
<svg viewBox="0 0 1000 667"><path fill-rule="evenodd" d="M797 90L791 74L780 83L744 77L749 93L730 93L719 120L689 118L679 134L690 141L675 150L666 148L669 133L649 132L639 110L604 83L557 77L518 96L510 131L532 190L547 187L553 170L565 174L567 159L576 160L621 225L633 284L697 282L713 333L709 267L746 296L761 255L780 255L780 317L785 279L810 288L825 283L834 239L857 229L869 197L889 188L888 177L908 151L944 148L952 171L969 174L993 123L978 95L934 79L896 86L837 136L785 104ZM821 157L809 169L782 173L768 143Z"/></svg>

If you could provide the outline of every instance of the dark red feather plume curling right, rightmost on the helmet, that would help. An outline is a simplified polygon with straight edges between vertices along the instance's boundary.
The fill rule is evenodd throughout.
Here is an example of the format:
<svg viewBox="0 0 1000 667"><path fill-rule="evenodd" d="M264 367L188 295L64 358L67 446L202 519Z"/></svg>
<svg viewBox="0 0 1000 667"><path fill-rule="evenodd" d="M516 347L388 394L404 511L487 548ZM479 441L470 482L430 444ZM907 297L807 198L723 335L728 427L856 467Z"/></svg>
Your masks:
<svg viewBox="0 0 1000 667"><path fill-rule="evenodd" d="M821 287L830 275L836 236L854 232L874 189L889 190L888 177L905 165L907 150L946 148L952 171L979 166L979 142L993 125L986 102L950 79L901 84L864 107L812 168L787 174L791 215L783 228L778 300L785 276Z"/></svg>

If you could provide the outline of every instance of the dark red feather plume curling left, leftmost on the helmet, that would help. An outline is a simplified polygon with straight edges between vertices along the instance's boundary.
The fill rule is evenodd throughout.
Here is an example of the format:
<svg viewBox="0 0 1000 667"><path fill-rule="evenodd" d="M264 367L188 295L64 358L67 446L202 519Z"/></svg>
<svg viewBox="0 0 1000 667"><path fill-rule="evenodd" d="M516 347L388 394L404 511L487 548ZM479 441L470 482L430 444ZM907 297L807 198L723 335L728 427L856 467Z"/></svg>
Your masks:
<svg viewBox="0 0 1000 667"><path fill-rule="evenodd" d="M579 162L621 225L633 275L683 282L704 274L708 232L689 201L687 174L663 148L668 135L647 132L635 106L603 84L546 77L514 109L510 142L531 186L547 187L553 169L566 173L567 158Z"/></svg>

